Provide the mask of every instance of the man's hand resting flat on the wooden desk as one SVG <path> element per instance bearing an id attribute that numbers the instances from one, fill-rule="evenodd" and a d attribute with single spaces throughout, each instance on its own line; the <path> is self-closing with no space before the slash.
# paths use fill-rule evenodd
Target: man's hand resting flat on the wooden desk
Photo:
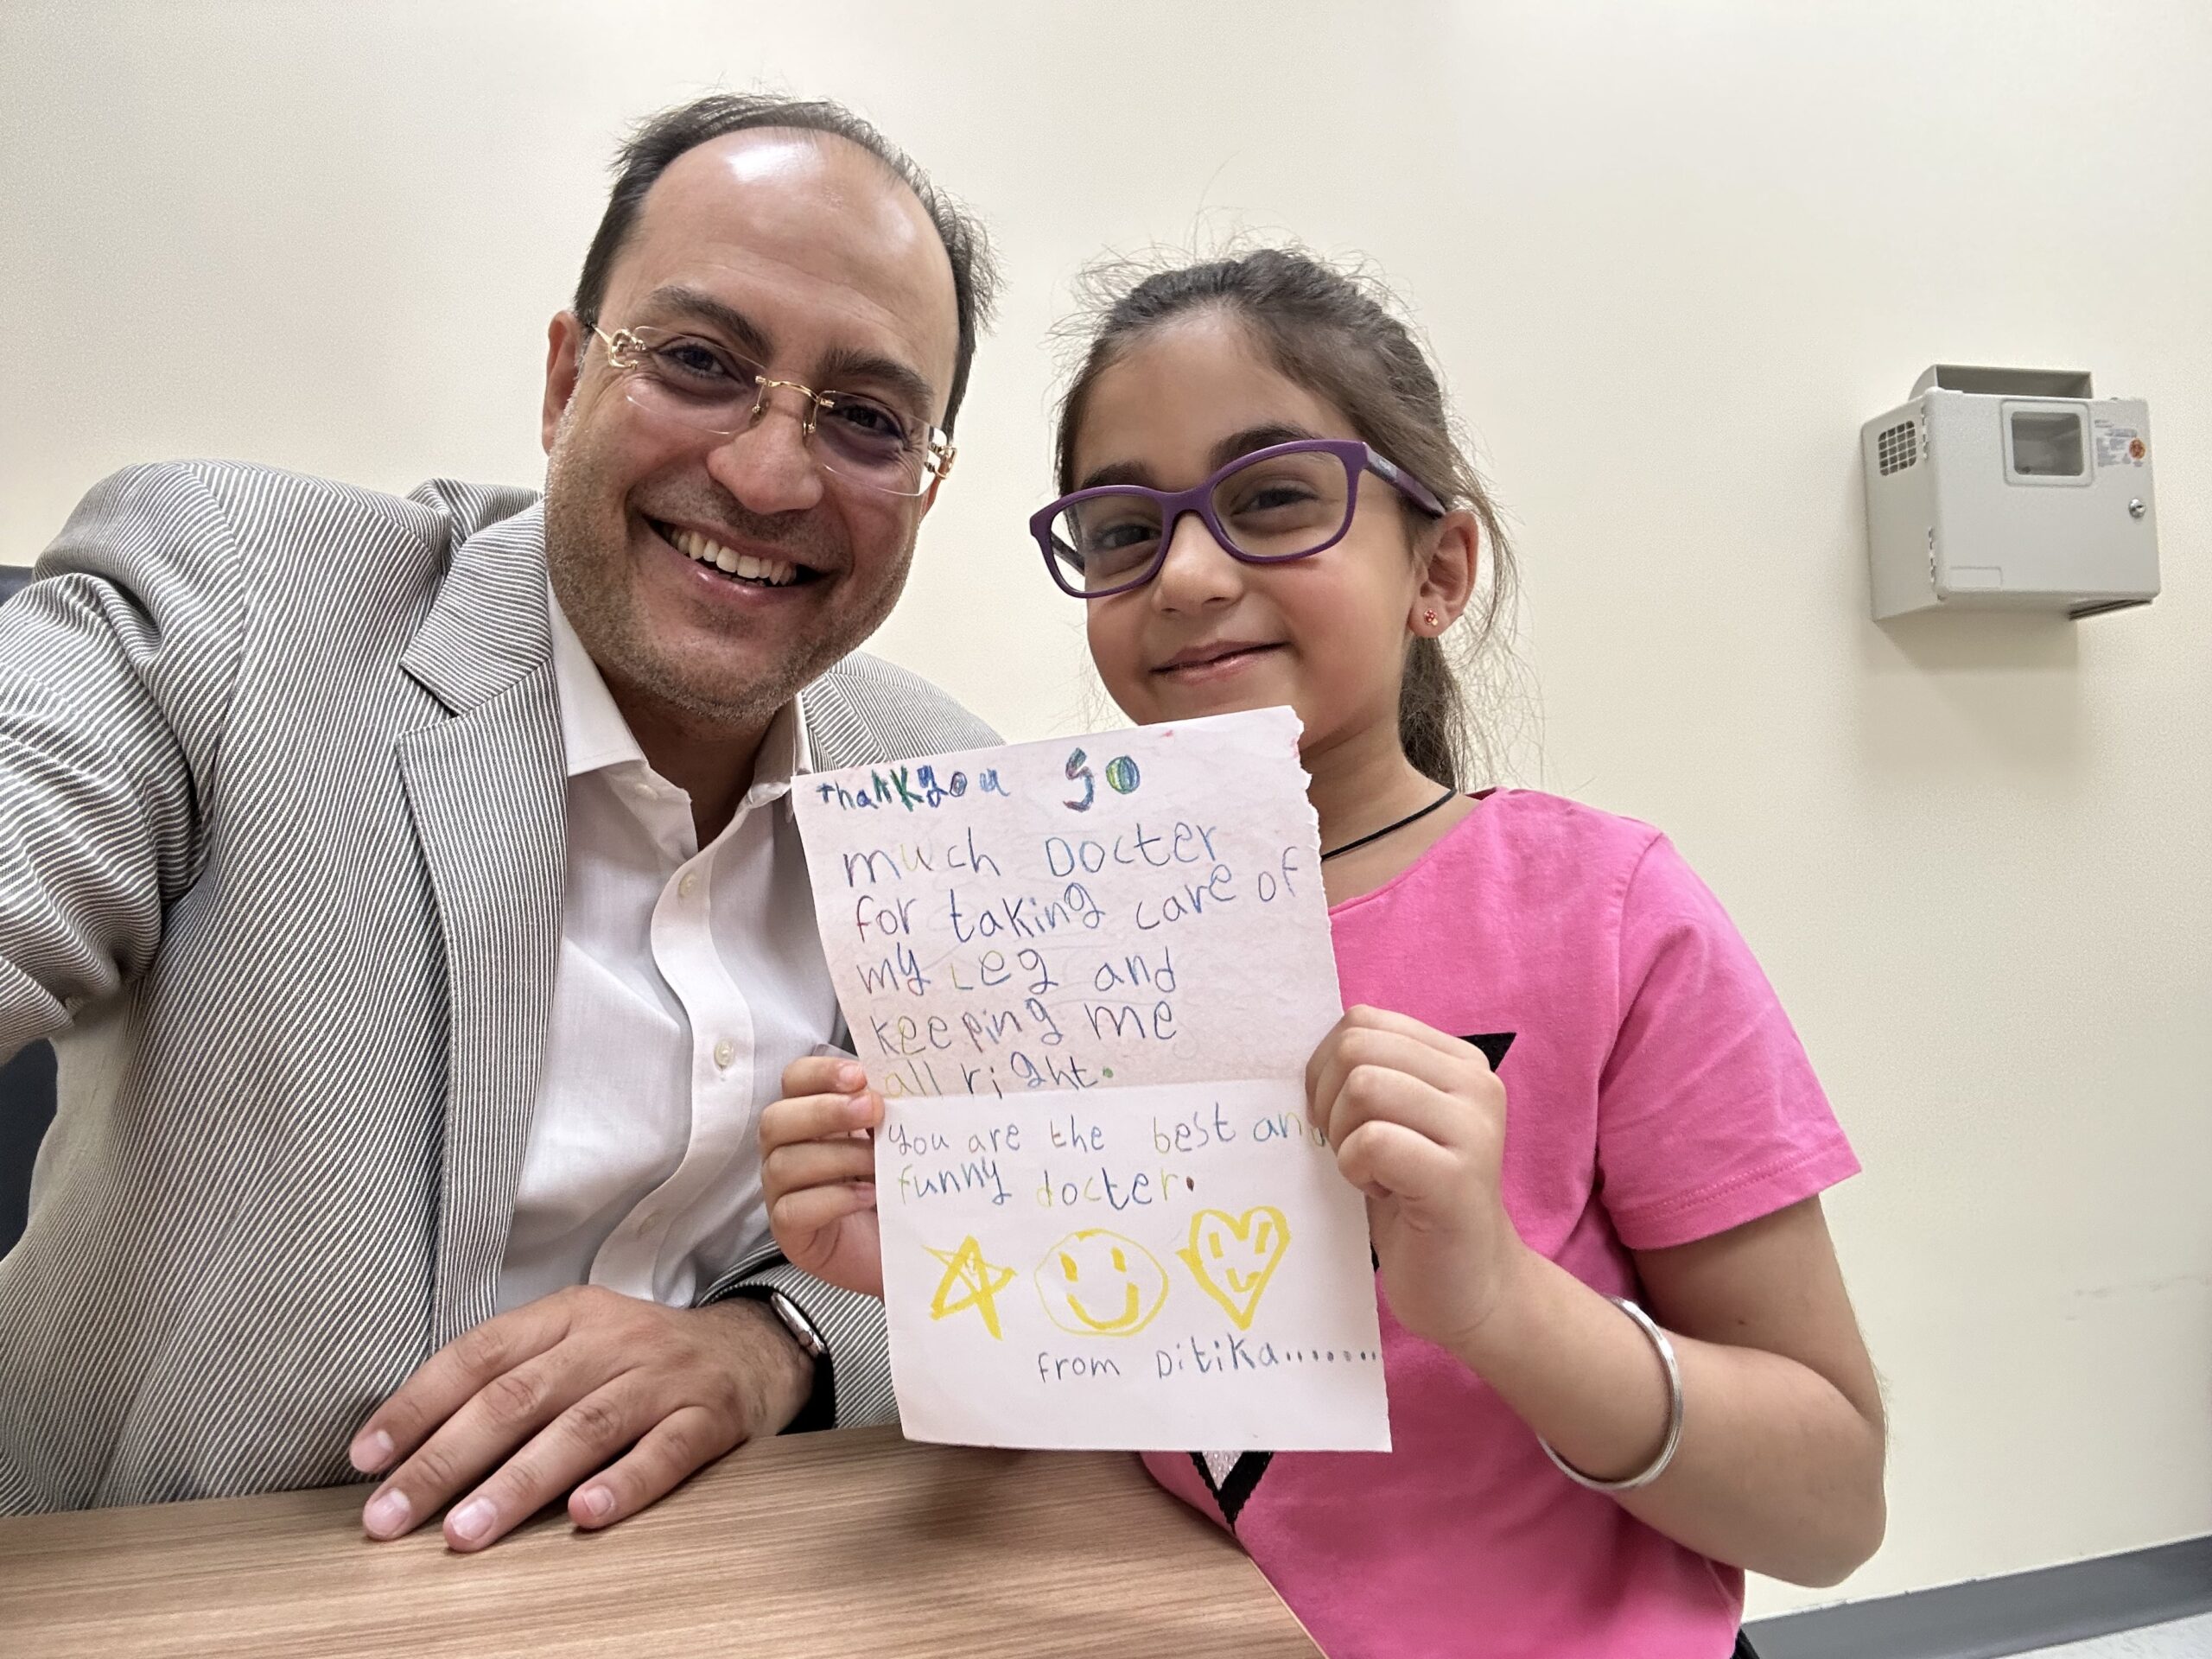
<path id="1" fill-rule="evenodd" d="M 741 1440 L 779 1433 L 812 1385 L 814 1360 L 759 1303 L 562 1290 L 447 1343 L 361 1427 L 354 1469 L 392 1471 L 361 1524 L 400 1537 L 467 1491 L 445 1517 L 456 1551 L 562 1493 L 577 1526 L 611 1526 Z"/>

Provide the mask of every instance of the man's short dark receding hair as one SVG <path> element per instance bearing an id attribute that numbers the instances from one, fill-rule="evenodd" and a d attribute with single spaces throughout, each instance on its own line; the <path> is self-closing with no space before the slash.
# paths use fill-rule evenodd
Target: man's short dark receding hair
<path id="1" fill-rule="evenodd" d="M 648 115 L 630 133 L 615 155 L 615 188 L 606 197 L 606 212 L 599 230 L 584 254 L 584 274 L 575 283 L 575 314 L 584 327 L 599 321 L 599 305 L 606 301 L 606 279 L 615 268 L 615 257 L 630 239 L 637 210 L 646 192 L 686 150 L 692 150 L 726 133 L 745 133 L 757 126 L 783 126 L 801 133 L 830 133 L 858 144 L 905 184 L 929 223 L 938 228 L 945 257 L 953 265 L 953 303 L 960 312 L 960 352 L 953 358 L 953 385 L 945 398 L 945 429 L 953 429 L 960 414 L 960 398 L 967 396 L 969 365 L 975 361 L 975 334 L 991 321 L 991 303 L 998 299 L 998 261 L 991 259 L 991 239 L 958 201 L 938 190 L 929 175 L 878 133 L 869 122 L 854 115 L 843 104 L 827 97 L 774 97 L 770 93 L 708 93 L 690 104 L 677 104 L 659 115 Z"/>

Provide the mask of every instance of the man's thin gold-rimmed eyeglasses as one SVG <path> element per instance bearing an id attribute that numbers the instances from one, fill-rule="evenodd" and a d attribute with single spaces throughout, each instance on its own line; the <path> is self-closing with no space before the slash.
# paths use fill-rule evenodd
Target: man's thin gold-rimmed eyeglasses
<path id="1" fill-rule="evenodd" d="M 836 478 L 887 495 L 922 495 L 953 469 L 953 442 L 945 431 L 878 398 L 774 380 L 752 358 L 699 334 L 661 327 L 608 334 L 597 325 L 591 332 L 624 376 L 628 400 L 659 420 L 734 438 L 768 414 L 768 394 L 783 389 L 805 400 L 799 431 L 814 462 Z"/>

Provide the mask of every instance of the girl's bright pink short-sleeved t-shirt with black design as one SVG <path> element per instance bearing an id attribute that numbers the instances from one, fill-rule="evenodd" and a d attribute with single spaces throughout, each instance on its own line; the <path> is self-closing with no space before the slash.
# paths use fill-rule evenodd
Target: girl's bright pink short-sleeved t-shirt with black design
<path id="1" fill-rule="evenodd" d="M 1750 949 L 1648 825 L 1500 790 L 1329 920 L 1347 1006 L 1502 1055 L 1506 1212 L 1595 1290 L 1635 1294 L 1630 1250 L 1708 1239 L 1858 1170 Z M 1739 1571 L 1566 1480 L 1387 1303 L 1383 1367 L 1389 1453 L 1146 1467 L 1230 1524 L 1332 1659 L 1725 1659 Z"/>

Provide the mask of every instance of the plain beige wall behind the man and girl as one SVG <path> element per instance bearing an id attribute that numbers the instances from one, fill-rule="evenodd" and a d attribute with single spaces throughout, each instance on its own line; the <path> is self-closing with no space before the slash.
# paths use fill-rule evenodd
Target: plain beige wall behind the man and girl
<path id="1" fill-rule="evenodd" d="M 0 560 L 148 456 L 533 480 L 611 137 L 768 80 L 998 228 L 878 648 L 1075 730 L 1077 606 L 1022 540 L 1066 279 L 1237 223 L 1363 250 L 1520 531 L 1522 781 L 1674 832 L 1871 1170 L 1834 1217 L 1893 1522 L 1851 1593 L 2212 1531 L 2208 15 L 9 0 Z M 2150 400 L 2157 606 L 1867 619 L 1856 427 L 1938 358 Z"/>

